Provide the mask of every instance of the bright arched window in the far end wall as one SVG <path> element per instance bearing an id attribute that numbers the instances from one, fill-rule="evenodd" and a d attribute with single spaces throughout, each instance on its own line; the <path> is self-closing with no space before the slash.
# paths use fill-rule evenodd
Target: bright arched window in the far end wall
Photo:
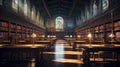
<path id="1" fill-rule="evenodd" d="M 56 18 L 56 31 L 62 31 L 63 30 L 63 24 L 64 20 L 61 16 L 58 16 Z"/>

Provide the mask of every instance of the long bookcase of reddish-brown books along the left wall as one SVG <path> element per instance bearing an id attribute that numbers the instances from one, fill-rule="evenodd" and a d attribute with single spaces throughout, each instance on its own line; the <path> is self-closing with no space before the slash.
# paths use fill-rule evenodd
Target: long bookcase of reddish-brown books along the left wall
<path id="1" fill-rule="evenodd" d="M 11 43 L 11 39 L 14 39 L 15 43 L 23 43 L 26 40 L 31 41 L 32 33 L 38 36 L 41 35 L 41 32 L 41 30 L 29 26 L 0 20 L 0 43 Z M 38 37 L 36 37 L 36 39 L 38 40 Z"/>

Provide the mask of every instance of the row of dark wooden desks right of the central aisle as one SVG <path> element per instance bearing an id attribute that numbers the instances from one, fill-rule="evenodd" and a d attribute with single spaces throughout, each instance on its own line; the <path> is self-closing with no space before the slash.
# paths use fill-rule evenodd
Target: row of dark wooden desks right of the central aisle
<path id="1" fill-rule="evenodd" d="M 97 44 L 89 44 L 86 43 L 86 41 L 70 41 L 71 45 L 73 46 L 73 49 L 75 50 L 76 48 L 82 49 L 83 50 L 83 61 L 84 62 L 90 62 L 91 58 L 91 53 L 92 55 L 95 55 L 96 52 L 110 52 L 113 53 L 112 55 L 116 61 L 120 61 L 120 45 L 114 45 L 112 46 L 111 44 L 105 45 L 101 44 L 100 42 L 97 42 Z M 95 60 L 94 60 L 95 61 Z"/>

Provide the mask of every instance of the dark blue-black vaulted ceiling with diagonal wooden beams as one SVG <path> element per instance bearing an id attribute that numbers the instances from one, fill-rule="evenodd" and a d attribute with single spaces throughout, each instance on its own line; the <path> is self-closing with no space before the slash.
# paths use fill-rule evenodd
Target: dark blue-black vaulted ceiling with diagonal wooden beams
<path id="1" fill-rule="evenodd" d="M 81 0 L 30 0 L 47 18 L 54 16 L 73 17 L 79 14 Z M 87 1 L 87 0 L 86 0 Z"/>

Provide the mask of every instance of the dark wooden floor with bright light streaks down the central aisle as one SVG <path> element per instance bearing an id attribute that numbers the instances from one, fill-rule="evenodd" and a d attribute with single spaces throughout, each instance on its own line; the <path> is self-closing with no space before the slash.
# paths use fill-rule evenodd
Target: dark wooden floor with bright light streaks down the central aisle
<path id="1" fill-rule="evenodd" d="M 120 67 L 117 62 L 100 62 L 85 64 L 82 62 L 79 50 L 73 50 L 64 40 L 57 40 L 51 49 L 44 50 L 43 58 L 39 62 L 31 61 L 7 61 L 0 62 L 0 67 Z"/>

